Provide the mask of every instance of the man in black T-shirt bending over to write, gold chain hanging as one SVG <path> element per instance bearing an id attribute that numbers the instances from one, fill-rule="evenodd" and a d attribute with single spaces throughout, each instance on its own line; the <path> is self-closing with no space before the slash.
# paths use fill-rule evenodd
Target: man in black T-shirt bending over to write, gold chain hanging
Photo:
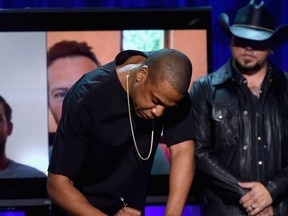
<path id="1" fill-rule="evenodd" d="M 144 215 L 163 131 L 172 161 L 165 214 L 181 215 L 194 175 L 191 75 L 180 51 L 126 50 L 78 80 L 48 167 L 51 214 Z"/>

